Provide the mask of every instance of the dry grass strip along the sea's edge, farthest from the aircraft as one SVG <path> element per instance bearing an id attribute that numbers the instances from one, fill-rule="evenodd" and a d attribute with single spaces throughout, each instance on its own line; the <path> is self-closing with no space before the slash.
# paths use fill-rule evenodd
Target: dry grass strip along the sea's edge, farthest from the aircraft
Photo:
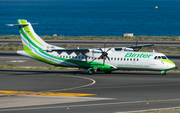
<path id="1" fill-rule="evenodd" d="M 133 36 L 133 37 L 123 37 L 123 36 L 40 36 L 45 40 L 141 40 L 141 41 L 180 41 L 179 36 Z M 0 39 L 20 39 L 19 35 L 0 35 Z"/>

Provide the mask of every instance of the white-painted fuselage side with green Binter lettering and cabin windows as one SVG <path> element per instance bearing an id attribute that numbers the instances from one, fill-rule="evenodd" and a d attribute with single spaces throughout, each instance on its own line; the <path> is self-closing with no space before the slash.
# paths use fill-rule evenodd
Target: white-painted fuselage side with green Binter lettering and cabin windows
<path id="1" fill-rule="evenodd" d="M 95 58 L 94 56 L 100 56 L 101 53 L 93 53 L 90 56 L 85 55 L 76 55 L 72 53 L 68 55 L 66 52 L 58 54 L 57 52 L 52 52 L 52 56 L 57 56 L 59 58 L 72 59 L 77 61 L 89 61 L 89 62 L 99 62 L 103 63 L 103 59 Z M 89 54 L 89 53 L 88 53 Z M 154 59 L 155 56 L 164 56 L 162 53 L 153 53 L 153 52 L 134 52 L 134 51 L 113 51 L 110 52 L 108 57 L 110 61 L 106 59 L 105 63 L 116 67 L 116 69 L 131 69 L 131 70 L 166 70 L 175 65 L 170 64 L 160 59 Z M 167 57 L 166 57 L 167 58 Z M 53 57 L 52 57 L 53 60 Z M 169 60 L 169 59 L 165 59 Z M 170 60 L 169 60 L 170 61 Z M 76 66 L 73 66 L 76 67 Z M 77 66 L 78 67 L 78 66 Z"/>

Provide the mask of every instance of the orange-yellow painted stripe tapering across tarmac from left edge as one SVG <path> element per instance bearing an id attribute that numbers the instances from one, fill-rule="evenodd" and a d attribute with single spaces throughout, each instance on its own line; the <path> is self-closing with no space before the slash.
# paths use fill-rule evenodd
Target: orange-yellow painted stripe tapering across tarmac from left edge
<path id="1" fill-rule="evenodd" d="M 7 90 L 0 90 L 0 94 L 7 94 L 7 95 L 17 94 L 17 95 L 70 96 L 70 97 L 80 97 L 80 96 L 92 96 L 92 95 L 96 95 L 96 94 L 83 94 L 83 93 L 7 91 Z"/>

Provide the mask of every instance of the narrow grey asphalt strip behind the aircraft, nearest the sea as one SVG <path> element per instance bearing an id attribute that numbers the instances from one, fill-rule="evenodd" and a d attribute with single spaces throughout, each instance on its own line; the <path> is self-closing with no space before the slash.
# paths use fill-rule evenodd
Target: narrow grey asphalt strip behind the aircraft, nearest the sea
<path id="1" fill-rule="evenodd" d="M 103 40 L 45 40 L 45 42 L 52 45 L 104 45 Z M 22 43 L 20 39 L 0 39 L 0 44 L 8 43 Z M 107 45 L 125 46 L 130 44 L 136 44 L 136 41 L 112 41 L 108 40 Z M 179 46 L 180 41 L 138 41 L 138 44 L 155 44 L 159 46 Z"/>

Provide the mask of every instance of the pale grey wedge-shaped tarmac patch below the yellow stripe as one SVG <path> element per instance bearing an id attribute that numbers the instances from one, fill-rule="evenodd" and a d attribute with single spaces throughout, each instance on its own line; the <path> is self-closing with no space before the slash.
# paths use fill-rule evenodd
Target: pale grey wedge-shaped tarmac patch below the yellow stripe
<path id="1" fill-rule="evenodd" d="M 7 111 L 11 111 L 12 107 L 32 107 L 38 105 L 51 105 L 51 104 L 64 104 L 74 102 L 87 102 L 87 101 L 100 101 L 100 100 L 112 100 L 113 98 L 98 98 L 98 97 L 65 97 L 65 96 L 16 96 L 0 98 L 0 111 L 6 108 Z M 60 107 L 60 106 L 59 106 Z M 8 109 L 10 108 L 10 109 Z M 41 107 L 37 107 L 41 109 Z M 18 110 L 19 108 L 17 108 Z M 26 108 L 21 108 L 21 110 Z M 36 109 L 33 107 L 32 109 Z"/>

